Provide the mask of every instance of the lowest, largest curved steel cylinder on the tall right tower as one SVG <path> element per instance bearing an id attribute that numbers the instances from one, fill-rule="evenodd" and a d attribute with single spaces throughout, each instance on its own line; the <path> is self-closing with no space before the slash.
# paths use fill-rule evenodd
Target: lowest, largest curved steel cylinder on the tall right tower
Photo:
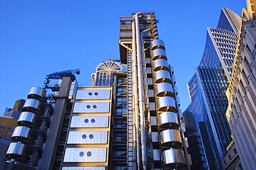
<path id="1" fill-rule="evenodd" d="M 163 151 L 164 166 L 168 168 L 185 167 L 185 157 L 181 149 L 167 149 Z"/>

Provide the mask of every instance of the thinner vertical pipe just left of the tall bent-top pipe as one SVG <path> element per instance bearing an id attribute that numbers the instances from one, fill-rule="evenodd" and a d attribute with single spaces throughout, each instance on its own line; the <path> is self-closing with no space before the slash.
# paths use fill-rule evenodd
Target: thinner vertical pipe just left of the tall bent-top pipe
<path id="1" fill-rule="evenodd" d="M 137 61 L 136 61 L 136 32 L 135 23 L 132 22 L 132 68 L 133 68 L 133 91 L 134 91 L 134 115 L 135 115 L 135 127 L 136 127 L 136 153 L 137 153 L 137 169 L 140 166 L 140 130 L 138 120 L 138 81 L 137 81 Z"/>

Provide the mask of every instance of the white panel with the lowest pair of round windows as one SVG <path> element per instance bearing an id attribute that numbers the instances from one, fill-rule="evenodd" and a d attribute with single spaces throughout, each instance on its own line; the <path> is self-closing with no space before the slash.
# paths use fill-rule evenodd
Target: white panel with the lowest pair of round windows
<path id="1" fill-rule="evenodd" d="M 91 156 L 87 156 L 88 153 Z M 80 155 L 83 153 L 83 155 Z M 66 148 L 64 162 L 106 162 L 107 148 Z"/>

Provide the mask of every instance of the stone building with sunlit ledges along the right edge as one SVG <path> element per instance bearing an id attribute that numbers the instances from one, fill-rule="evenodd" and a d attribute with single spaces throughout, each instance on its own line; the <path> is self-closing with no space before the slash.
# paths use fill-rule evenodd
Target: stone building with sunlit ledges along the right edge
<path id="1" fill-rule="evenodd" d="M 235 53 L 230 86 L 226 92 L 228 109 L 226 116 L 232 131 L 243 169 L 256 167 L 256 1 L 247 0 L 242 11 L 242 26 Z M 228 156 L 230 156 L 228 155 Z M 225 161 L 225 160 L 224 160 Z M 227 162 L 227 160 L 226 160 Z M 225 164 L 228 169 L 230 164 Z"/>

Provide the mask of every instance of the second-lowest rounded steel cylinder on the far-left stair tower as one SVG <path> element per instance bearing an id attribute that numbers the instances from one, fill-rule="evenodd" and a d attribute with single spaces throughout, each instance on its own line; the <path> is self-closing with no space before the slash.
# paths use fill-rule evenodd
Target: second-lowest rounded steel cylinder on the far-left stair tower
<path id="1" fill-rule="evenodd" d="M 13 141 L 28 142 L 32 129 L 29 127 L 15 127 L 11 139 Z"/>

